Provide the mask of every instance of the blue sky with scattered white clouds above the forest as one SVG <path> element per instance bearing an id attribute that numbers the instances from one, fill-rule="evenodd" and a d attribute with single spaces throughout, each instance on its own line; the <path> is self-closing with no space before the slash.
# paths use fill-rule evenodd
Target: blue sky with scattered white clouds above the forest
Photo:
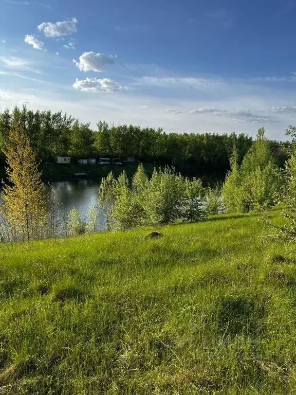
<path id="1" fill-rule="evenodd" d="M 286 139 L 295 19 L 290 0 L 0 0 L 0 107 Z"/>

